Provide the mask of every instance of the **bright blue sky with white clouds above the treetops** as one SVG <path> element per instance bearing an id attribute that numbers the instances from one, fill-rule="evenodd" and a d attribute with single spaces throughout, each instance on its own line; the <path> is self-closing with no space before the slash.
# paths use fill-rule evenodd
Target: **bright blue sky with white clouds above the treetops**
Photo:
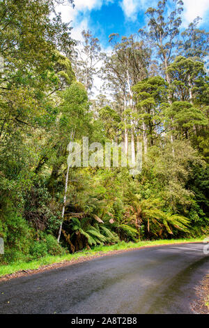
<path id="1" fill-rule="evenodd" d="M 62 5 L 57 10 L 61 11 L 65 22 L 72 21 L 74 38 L 80 40 L 82 30 L 90 29 L 100 39 L 104 50 L 108 50 L 110 33 L 121 36 L 137 33 L 146 24 L 146 8 L 156 3 L 157 0 L 75 0 L 74 9 Z M 200 27 L 208 30 L 209 1 L 184 0 L 184 3 L 183 26 L 199 15 L 203 18 Z"/>

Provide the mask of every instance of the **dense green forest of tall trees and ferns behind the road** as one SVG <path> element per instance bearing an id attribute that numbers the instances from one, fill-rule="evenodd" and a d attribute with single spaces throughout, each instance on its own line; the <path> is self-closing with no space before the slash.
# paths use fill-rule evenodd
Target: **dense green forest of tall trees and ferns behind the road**
<path id="1" fill-rule="evenodd" d="M 93 31 L 72 39 L 57 2 L 0 2 L 1 263 L 207 234 L 209 33 L 201 18 L 183 28 L 183 1 L 159 1 L 136 35 L 112 33 L 105 54 Z M 141 142 L 141 172 L 69 167 L 69 142 L 85 136 L 124 142 L 125 152 L 130 142 L 133 160 Z"/>

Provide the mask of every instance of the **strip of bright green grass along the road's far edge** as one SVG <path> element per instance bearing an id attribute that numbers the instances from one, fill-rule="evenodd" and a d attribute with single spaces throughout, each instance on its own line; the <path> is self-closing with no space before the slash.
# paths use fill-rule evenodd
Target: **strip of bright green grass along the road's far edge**
<path id="1" fill-rule="evenodd" d="M 111 246 L 95 246 L 89 251 L 80 251 L 75 254 L 66 254 L 63 256 L 45 256 L 44 258 L 40 258 L 39 260 L 34 260 L 31 262 L 14 262 L 8 265 L 0 266 L 0 277 L 6 276 L 6 274 L 14 274 L 17 271 L 29 270 L 29 269 L 38 269 L 47 264 L 53 263 L 61 263 L 64 261 L 77 260 L 81 257 L 92 257 L 94 255 L 98 255 L 100 253 L 108 253 L 111 251 L 125 250 L 128 248 L 140 248 L 144 246 L 157 246 L 157 245 L 165 245 L 165 244 L 181 244 L 185 242 L 197 242 L 203 241 L 204 237 L 201 238 L 191 238 L 191 239 L 169 239 L 169 240 L 157 240 L 157 241 L 139 241 L 137 243 L 125 243 L 125 241 L 121 241 L 118 244 Z"/>

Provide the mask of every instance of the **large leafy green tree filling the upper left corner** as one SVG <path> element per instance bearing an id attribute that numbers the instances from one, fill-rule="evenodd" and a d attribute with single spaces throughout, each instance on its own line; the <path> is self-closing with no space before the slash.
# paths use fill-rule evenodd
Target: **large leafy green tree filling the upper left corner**
<path id="1" fill-rule="evenodd" d="M 0 2 L 0 56 L 4 61 L 0 73 L 1 140 L 21 129 L 38 128 L 40 117 L 47 114 L 47 96 L 65 80 L 56 75 L 67 64 L 60 52 L 68 54 L 73 41 L 69 24 L 54 13 L 55 2 Z"/>

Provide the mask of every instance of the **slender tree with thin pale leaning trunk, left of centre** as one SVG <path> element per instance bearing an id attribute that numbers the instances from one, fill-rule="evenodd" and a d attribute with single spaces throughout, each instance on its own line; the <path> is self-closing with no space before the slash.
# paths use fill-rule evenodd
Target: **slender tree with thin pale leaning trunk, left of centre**
<path id="1" fill-rule="evenodd" d="M 67 156 L 70 149 L 67 146 L 69 142 L 80 140 L 85 133 L 89 135 L 92 119 L 88 111 L 88 96 L 82 83 L 72 83 L 70 87 L 61 91 L 60 97 L 59 115 L 54 122 L 54 133 L 52 134 L 51 140 L 49 140 L 50 144 L 54 143 L 53 152 L 47 161 L 47 166 L 52 168 L 47 187 L 54 199 L 62 191 L 61 186 L 64 185 L 63 209 L 58 241 L 61 237 L 62 222 L 68 195 L 70 164 L 67 165 Z M 66 166 L 67 169 L 65 170 Z M 63 180 L 65 180 L 65 183 Z"/>

